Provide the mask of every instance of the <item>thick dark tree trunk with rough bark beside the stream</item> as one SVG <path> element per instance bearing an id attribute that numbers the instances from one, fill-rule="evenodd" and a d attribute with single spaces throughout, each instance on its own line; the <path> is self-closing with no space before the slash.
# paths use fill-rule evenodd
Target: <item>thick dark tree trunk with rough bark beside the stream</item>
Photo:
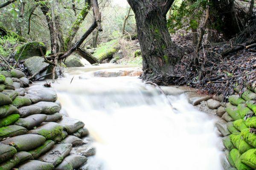
<path id="1" fill-rule="evenodd" d="M 145 81 L 168 84 L 180 59 L 180 48 L 172 43 L 166 14 L 173 0 L 128 0 L 134 11 L 143 56 Z"/>

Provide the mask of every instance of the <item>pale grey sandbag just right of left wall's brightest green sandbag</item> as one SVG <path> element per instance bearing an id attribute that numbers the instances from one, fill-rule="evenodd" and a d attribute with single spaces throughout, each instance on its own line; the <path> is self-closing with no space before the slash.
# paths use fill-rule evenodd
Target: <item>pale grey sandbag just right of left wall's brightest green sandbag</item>
<path id="1" fill-rule="evenodd" d="M 15 122 L 15 124 L 30 130 L 33 129 L 34 127 L 39 126 L 41 123 L 45 121 L 46 118 L 47 115 L 42 114 L 30 115 L 26 118 L 20 118 Z"/>

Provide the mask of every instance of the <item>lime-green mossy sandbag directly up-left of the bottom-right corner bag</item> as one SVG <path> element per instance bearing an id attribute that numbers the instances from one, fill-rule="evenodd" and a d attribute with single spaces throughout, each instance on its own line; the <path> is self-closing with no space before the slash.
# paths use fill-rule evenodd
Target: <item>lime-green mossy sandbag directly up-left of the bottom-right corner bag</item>
<path id="1" fill-rule="evenodd" d="M 239 153 L 243 154 L 247 150 L 253 149 L 246 141 L 243 140 L 240 133 L 234 133 L 230 135 L 230 140 L 234 146 L 239 150 Z"/>

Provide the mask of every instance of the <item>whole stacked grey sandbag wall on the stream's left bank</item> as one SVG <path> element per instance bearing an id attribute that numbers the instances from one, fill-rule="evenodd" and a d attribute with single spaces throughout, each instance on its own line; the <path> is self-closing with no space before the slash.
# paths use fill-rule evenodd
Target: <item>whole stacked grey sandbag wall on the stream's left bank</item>
<path id="1" fill-rule="evenodd" d="M 24 76 L 0 71 L 0 170 L 84 169 L 95 154 L 84 123 L 67 116 L 54 89 L 28 87 Z"/>

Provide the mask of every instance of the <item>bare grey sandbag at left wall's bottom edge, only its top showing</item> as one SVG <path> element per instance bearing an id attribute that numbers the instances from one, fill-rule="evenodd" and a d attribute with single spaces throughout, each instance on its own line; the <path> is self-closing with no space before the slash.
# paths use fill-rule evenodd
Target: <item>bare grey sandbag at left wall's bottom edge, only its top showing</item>
<path id="1" fill-rule="evenodd" d="M 38 160 L 29 160 L 21 165 L 18 170 L 53 170 L 54 166 L 51 163 Z"/>

